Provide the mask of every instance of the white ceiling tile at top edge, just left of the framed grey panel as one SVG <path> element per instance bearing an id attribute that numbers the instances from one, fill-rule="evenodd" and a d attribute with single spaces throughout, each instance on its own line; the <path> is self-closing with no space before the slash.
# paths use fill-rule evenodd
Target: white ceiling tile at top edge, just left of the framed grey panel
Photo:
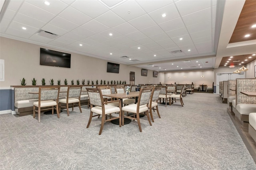
<path id="1" fill-rule="evenodd" d="M 108 11 L 108 8 L 98 2 L 97 0 L 77 0 L 71 4 L 73 8 L 81 11 L 82 13 L 95 18 Z M 97 10 L 92 10 L 97 9 Z"/>

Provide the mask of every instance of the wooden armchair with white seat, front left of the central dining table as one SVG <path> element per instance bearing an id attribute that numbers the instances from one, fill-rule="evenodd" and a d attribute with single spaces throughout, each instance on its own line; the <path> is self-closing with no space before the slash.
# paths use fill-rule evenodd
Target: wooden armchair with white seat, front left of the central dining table
<path id="1" fill-rule="evenodd" d="M 115 107 L 110 105 L 110 103 L 113 103 L 116 101 L 104 101 L 102 89 L 98 89 L 98 88 L 86 88 L 86 89 L 90 99 L 90 118 L 86 128 L 90 126 L 92 117 L 98 117 L 99 115 L 102 115 L 99 135 L 102 133 L 104 124 L 107 121 L 119 119 L 119 127 L 122 127 L 121 100 L 118 100 L 118 107 Z M 119 112 L 118 117 L 114 117 L 111 115 L 111 113 L 117 113 L 117 112 Z M 95 113 L 96 115 L 94 115 L 93 113 Z M 110 119 L 107 119 L 108 117 L 110 117 Z"/>

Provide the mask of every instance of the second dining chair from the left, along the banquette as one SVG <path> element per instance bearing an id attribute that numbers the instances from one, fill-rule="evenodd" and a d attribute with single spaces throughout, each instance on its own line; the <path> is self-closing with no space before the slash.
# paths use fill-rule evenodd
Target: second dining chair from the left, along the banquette
<path id="1" fill-rule="evenodd" d="M 68 92 L 66 99 L 59 100 L 59 109 L 66 108 L 69 116 L 69 105 L 72 105 L 72 111 L 74 111 L 74 105 L 78 105 L 80 112 L 82 113 L 81 104 L 80 104 L 80 96 L 81 96 L 82 86 L 80 85 L 72 85 L 68 86 Z M 65 105 L 61 105 L 64 103 Z"/>

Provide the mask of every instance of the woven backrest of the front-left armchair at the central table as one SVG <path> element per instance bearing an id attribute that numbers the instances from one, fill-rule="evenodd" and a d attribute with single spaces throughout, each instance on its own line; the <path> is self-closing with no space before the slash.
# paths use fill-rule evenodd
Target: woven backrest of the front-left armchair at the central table
<path id="1" fill-rule="evenodd" d="M 98 88 L 86 88 L 86 90 L 87 90 L 87 93 L 88 93 L 88 97 L 89 97 L 89 100 L 90 100 L 91 107 L 92 107 L 92 105 L 102 107 L 103 100 L 101 100 L 101 97 L 100 97 L 100 89 L 98 89 Z"/>

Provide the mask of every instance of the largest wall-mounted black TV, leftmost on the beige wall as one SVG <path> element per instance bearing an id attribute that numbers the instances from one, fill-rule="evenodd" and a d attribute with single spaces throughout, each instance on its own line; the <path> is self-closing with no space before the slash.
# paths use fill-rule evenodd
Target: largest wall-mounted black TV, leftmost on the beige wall
<path id="1" fill-rule="evenodd" d="M 70 68 L 71 54 L 40 48 L 40 65 Z"/>

